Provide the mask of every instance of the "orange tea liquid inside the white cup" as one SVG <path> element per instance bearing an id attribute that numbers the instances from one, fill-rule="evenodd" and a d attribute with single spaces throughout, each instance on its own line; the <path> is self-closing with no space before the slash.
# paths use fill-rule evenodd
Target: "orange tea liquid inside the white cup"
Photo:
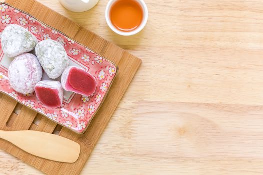
<path id="1" fill-rule="evenodd" d="M 133 31 L 140 26 L 143 9 L 136 0 L 117 0 L 110 9 L 111 23 L 120 31 Z"/>

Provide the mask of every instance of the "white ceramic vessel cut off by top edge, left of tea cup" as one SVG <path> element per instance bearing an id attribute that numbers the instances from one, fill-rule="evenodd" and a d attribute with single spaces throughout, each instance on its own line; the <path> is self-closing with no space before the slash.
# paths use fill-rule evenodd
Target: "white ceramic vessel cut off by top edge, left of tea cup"
<path id="1" fill-rule="evenodd" d="M 70 11 L 83 12 L 93 8 L 99 0 L 59 0 Z"/>

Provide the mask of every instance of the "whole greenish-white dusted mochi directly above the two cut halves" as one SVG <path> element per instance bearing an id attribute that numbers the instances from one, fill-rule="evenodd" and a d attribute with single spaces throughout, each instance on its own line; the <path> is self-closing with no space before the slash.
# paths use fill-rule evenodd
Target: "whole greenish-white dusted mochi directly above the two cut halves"
<path id="1" fill-rule="evenodd" d="M 54 40 L 43 40 L 35 48 L 38 60 L 47 75 L 55 79 L 69 66 L 69 58 L 64 47 Z"/>

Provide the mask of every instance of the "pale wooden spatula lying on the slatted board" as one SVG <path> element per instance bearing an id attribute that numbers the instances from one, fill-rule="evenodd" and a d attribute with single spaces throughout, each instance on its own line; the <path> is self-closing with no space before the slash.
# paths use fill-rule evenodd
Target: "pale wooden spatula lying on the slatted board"
<path id="1" fill-rule="evenodd" d="M 80 145 L 59 135 L 34 130 L 3 131 L 0 138 L 20 149 L 53 161 L 74 163 L 80 154 Z"/>

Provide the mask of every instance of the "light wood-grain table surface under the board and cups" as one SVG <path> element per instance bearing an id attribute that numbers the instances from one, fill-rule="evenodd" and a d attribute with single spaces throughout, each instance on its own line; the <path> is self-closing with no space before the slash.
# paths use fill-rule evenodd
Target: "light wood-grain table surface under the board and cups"
<path id="1" fill-rule="evenodd" d="M 82 174 L 263 173 L 262 0 L 145 0 L 131 37 L 108 28 L 108 0 L 84 13 L 38 1 L 143 60 Z M 42 174 L 0 160 L 0 174 Z"/>

